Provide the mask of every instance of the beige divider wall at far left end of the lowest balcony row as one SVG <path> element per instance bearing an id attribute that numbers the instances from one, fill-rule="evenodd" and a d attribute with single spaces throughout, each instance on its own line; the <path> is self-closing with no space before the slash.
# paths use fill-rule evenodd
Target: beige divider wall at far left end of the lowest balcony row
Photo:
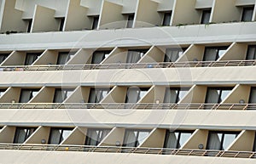
<path id="1" fill-rule="evenodd" d="M 15 130 L 15 127 L 3 127 L 0 133 L 0 142 L 6 144 L 13 144 L 15 139 Z"/>

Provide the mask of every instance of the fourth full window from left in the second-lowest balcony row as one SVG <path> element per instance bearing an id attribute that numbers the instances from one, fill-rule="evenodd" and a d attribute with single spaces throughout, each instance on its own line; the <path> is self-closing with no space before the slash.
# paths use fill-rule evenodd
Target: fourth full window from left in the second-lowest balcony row
<path id="1" fill-rule="evenodd" d="M 137 103 L 148 92 L 148 88 L 128 88 L 125 103 Z"/>

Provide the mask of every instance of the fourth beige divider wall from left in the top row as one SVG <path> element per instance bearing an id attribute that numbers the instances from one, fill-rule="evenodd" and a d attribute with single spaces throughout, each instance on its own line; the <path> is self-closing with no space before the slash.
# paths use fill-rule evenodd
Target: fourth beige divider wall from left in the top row
<path id="1" fill-rule="evenodd" d="M 122 14 L 123 6 L 103 1 L 99 29 L 125 28 L 126 20 Z"/>

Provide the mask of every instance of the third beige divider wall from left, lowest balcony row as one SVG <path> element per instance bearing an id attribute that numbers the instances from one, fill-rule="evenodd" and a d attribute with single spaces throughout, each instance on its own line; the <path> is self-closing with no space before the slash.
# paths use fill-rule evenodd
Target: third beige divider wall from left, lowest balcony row
<path id="1" fill-rule="evenodd" d="M 86 132 L 87 128 L 75 127 L 73 132 L 67 137 L 66 140 L 63 140 L 61 144 L 84 145 Z"/>

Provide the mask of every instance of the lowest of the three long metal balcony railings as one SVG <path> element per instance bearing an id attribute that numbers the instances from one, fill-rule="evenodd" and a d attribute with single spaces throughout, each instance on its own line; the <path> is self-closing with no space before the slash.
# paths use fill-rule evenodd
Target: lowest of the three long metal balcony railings
<path id="1" fill-rule="evenodd" d="M 71 144 L 0 144 L 0 150 L 51 150 L 51 151 L 84 151 L 104 153 L 134 153 L 166 156 L 214 156 L 230 158 L 256 158 L 253 151 L 229 150 L 177 150 L 166 148 L 136 148 L 118 146 L 88 146 Z"/>

